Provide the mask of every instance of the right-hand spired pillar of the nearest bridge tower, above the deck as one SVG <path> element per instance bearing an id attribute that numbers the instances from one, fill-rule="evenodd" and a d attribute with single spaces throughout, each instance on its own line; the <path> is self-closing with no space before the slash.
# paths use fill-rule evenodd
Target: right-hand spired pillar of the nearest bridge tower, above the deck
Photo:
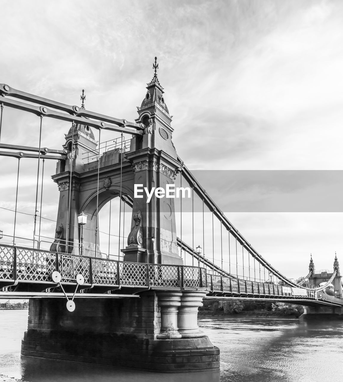
<path id="1" fill-rule="evenodd" d="M 165 190 L 168 184 L 174 184 L 180 162 L 171 141 L 172 116 L 164 100 L 163 87 L 157 78 L 156 60 L 155 57 L 155 74 L 147 84 L 141 106 L 137 107 L 136 122 L 145 128 L 142 137 L 132 139 L 126 158 L 134 168 L 135 185 L 142 185 L 149 190 L 154 187 Z M 174 199 L 158 198 L 154 194 L 150 202 L 147 202 L 144 194 L 143 198 L 134 198 L 132 214 L 133 218 L 141 215 L 142 243 L 138 243 L 131 231 L 128 246 L 122 250 L 125 261 L 182 265 L 176 244 Z"/>

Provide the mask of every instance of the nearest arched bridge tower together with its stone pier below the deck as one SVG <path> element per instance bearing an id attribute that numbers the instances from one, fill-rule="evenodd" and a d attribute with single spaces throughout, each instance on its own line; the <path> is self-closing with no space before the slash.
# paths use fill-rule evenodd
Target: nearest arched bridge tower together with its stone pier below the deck
<path id="1" fill-rule="evenodd" d="M 138 107 L 136 122 L 141 131 L 131 139 L 129 151 L 120 147 L 100 156 L 99 142 L 91 129 L 78 124 L 66 135 L 67 159 L 58 163 L 52 176 L 60 189 L 54 251 L 58 251 L 61 238 L 79 241 L 77 215 L 84 212 L 88 216 L 84 255 L 102 257 L 97 213 L 114 197 L 128 196 L 132 201 L 132 228 L 128 245 L 122 249 L 124 262 L 118 261 L 116 268 L 108 271 L 100 259 L 87 261 L 100 264 L 99 272 L 111 282 L 121 273 L 128 276 L 132 282 L 128 293 L 136 294 L 125 295 L 119 282 L 110 283 L 107 294 L 78 299 L 73 312 L 66 310 L 63 299 L 31 299 L 23 355 L 160 371 L 219 367 L 219 349 L 197 325 L 198 308 L 209 291 L 202 283 L 187 288 L 181 283 L 163 287 L 163 277 L 175 277 L 172 272 L 179 267 L 160 264 L 183 264 L 177 249 L 173 198 L 153 195 L 148 202 L 145 193 L 142 198 L 134 197 L 135 185 L 149 191 L 153 187 L 165 190 L 182 165 L 171 141 L 171 116 L 157 68 L 155 57 L 155 74 Z M 94 155 L 97 159 L 97 153 L 99 160 L 92 160 Z M 67 251 L 78 254 L 72 246 Z M 149 264 L 134 264 L 142 262 Z M 162 267 L 168 269 L 165 275 Z M 144 286 L 138 283 L 142 269 L 148 272 L 144 274 Z M 193 270 L 186 269 L 186 274 L 182 270 L 183 280 Z M 145 282 L 150 283 L 150 275 L 160 282 L 156 290 L 145 286 Z M 201 277 L 199 273 L 199 280 Z M 112 291 L 115 296 L 111 296 Z"/>

